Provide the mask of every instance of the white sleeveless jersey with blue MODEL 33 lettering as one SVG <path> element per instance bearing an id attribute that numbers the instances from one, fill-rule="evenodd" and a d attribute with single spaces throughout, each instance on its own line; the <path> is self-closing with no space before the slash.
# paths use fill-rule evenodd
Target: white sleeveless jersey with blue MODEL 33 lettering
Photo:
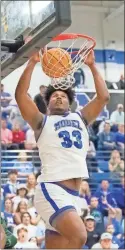
<path id="1" fill-rule="evenodd" d="M 38 182 L 88 178 L 89 135 L 79 113 L 46 116 L 37 146 L 42 162 Z"/>

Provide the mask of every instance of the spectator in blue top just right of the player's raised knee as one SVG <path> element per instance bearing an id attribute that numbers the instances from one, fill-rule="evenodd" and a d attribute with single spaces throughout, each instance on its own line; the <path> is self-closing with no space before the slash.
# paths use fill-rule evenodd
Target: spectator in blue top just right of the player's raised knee
<path id="1" fill-rule="evenodd" d="M 103 233 L 105 231 L 104 215 L 103 211 L 99 206 L 97 197 L 94 196 L 91 197 L 89 208 L 90 208 L 90 214 L 94 217 L 96 221 L 96 229 L 98 230 L 98 232 Z"/>

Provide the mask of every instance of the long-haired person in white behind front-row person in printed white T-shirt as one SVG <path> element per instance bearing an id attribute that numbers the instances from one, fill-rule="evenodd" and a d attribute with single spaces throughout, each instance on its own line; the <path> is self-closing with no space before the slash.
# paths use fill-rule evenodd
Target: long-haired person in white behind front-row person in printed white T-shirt
<path id="1" fill-rule="evenodd" d="M 28 212 L 25 212 L 21 216 L 21 224 L 14 228 L 14 235 L 17 237 L 17 231 L 20 228 L 26 228 L 28 231 L 28 240 L 32 237 L 36 237 L 37 227 L 31 224 L 31 216 Z"/>

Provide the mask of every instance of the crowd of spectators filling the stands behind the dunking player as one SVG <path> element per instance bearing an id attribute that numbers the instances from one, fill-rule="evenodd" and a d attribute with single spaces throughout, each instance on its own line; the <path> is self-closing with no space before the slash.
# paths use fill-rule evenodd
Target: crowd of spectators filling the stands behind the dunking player
<path id="1" fill-rule="evenodd" d="M 34 102 L 45 114 L 44 91 L 45 87 L 40 86 Z M 38 165 L 33 161 L 37 152 L 34 132 L 23 120 L 11 95 L 4 91 L 3 84 L 1 106 L 1 224 L 9 232 L 10 243 L 6 244 L 15 249 L 44 249 L 45 223 L 33 202 L 41 166 L 40 160 Z M 122 249 L 125 243 L 123 105 L 117 105 L 109 120 L 100 121 L 97 131 L 94 126 L 88 131 L 90 179 L 83 180 L 80 188 L 81 218 L 87 230 L 83 248 Z"/>

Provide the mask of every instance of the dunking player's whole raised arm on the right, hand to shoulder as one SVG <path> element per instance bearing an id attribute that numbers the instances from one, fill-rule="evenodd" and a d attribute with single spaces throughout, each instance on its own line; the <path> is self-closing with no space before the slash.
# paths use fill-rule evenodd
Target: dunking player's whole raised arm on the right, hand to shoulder
<path id="1" fill-rule="evenodd" d="M 98 117 L 104 106 L 109 102 L 110 95 L 106 83 L 96 67 L 93 50 L 86 58 L 85 64 L 88 65 L 92 72 L 96 89 L 96 96 L 81 110 L 82 117 L 90 124 Z"/>

